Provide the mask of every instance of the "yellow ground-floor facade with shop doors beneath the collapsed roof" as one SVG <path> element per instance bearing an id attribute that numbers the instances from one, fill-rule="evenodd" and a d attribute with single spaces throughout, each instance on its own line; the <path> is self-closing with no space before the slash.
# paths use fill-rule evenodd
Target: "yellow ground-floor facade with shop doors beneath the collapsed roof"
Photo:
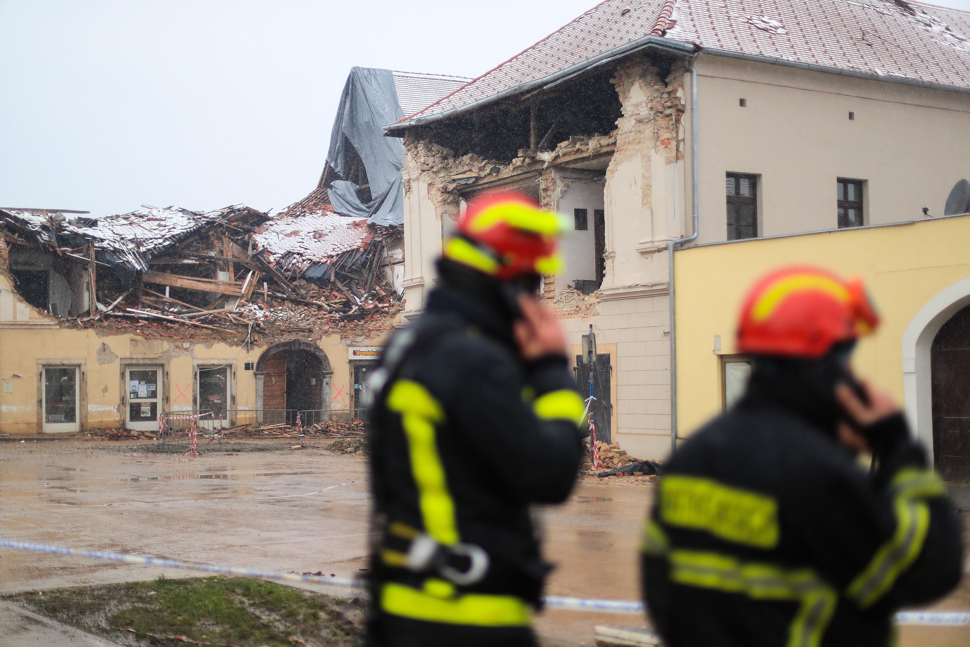
<path id="1" fill-rule="evenodd" d="M 242 337 L 235 342 L 194 337 L 188 326 L 171 338 L 61 328 L 0 274 L 0 432 L 150 431 L 158 428 L 160 412 L 206 409 L 237 412 L 231 414 L 233 424 L 237 417 L 249 422 L 257 410 L 277 409 L 279 393 L 294 388 L 302 390 L 305 404 L 298 408 L 360 407 L 361 385 L 355 380 L 362 383 L 367 371 L 361 368 L 372 366 L 380 341 L 294 335 L 247 346 Z M 275 384 L 280 379 L 284 384 Z"/>

